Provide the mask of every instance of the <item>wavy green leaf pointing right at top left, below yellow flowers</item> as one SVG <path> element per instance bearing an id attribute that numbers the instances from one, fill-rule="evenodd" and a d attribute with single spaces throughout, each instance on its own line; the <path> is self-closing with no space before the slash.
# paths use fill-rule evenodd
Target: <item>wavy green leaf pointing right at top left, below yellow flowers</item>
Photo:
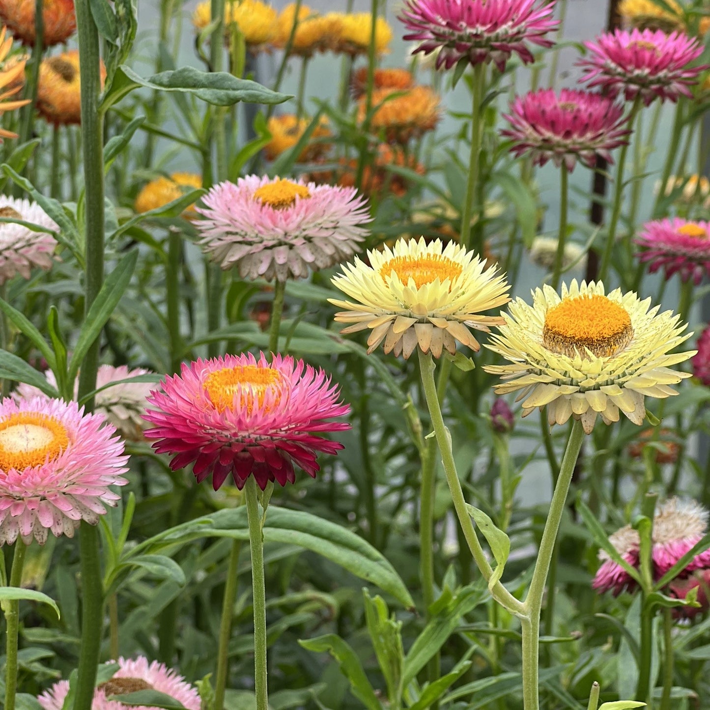
<path id="1" fill-rule="evenodd" d="M 106 111 L 138 87 L 154 91 L 187 92 L 214 106 L 232 106 L 240 101 L 251 104 L 282 104 L 292 98 L 256 82 L 238 79 L 227 72 L 201 72 L 194 67 L 182 67 L 144 79 L 131 67 L 121 65 L 116 69 L 110 91 L 102 100 L 102 111 Z"/>

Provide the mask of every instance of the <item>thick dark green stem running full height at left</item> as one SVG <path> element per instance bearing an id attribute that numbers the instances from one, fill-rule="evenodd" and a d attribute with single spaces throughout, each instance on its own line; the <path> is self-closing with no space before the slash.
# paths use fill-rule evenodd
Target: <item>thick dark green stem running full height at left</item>
<path id="1" fill-rule="evenodd" d="M 82 148 L 84 154 L 86 273 L 84 312 L 88 312 L 104 282 L 104 131 L 103 114 L 99 109 L 101 92 L 99 33 L 89 0 L 76 0 L 79 36 L 80 80 L 82 84 Z M 79 397 L 96 388 L 99 366 L 99 339 L 84 357 L 79 377 Z M 89 398 L 86 408 L 94 408 Z M 80 563 L 82 573 L 82 642 L 74 710 L 90 710 L 94 697 L 97 665 L 104 626 L 104 589 L 99 530 L 83 522 L 80 526 Z"/>

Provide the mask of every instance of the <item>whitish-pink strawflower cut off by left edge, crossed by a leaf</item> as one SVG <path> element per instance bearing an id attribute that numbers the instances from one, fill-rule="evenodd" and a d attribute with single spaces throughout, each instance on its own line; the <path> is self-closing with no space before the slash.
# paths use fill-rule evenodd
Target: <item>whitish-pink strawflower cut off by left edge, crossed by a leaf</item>
<path id="1" fill-rule="evenodd" d="M 45 271 L 52 268 L 57 241 L 49 232 L 59 227 L 36 202 L 0 195 L 0 217 L 21 219 L 48 230 L 33 231 L 22 224 L 0 222 L 0 284 L 18 273 L 30 278 L 34 267 Z"/>

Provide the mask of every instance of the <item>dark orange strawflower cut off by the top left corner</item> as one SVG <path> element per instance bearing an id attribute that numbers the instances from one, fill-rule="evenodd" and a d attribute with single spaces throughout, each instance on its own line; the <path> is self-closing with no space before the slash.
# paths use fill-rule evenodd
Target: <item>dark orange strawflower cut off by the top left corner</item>
<path id="1" fill-rule="evenodd" d="M 43 47 L 66 42 L 77 30 L 74 0 L 44 0 Z M 0 20 L 23 44 L 35 43 L 35 0 L 0 0 Z"/>

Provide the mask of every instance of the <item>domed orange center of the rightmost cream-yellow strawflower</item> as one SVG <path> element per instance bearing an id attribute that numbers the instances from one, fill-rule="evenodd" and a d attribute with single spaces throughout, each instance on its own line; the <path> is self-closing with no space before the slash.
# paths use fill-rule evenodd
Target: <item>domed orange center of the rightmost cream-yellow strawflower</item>
<path id="1" fill-rule="evenodd" d="M 606 296 L 565 298 L 545 314 L 542 342 L 548 350 L 584 357 L 589 349 L 597 357 L 611 357 L 633 337 L 626 310 Z"/>

